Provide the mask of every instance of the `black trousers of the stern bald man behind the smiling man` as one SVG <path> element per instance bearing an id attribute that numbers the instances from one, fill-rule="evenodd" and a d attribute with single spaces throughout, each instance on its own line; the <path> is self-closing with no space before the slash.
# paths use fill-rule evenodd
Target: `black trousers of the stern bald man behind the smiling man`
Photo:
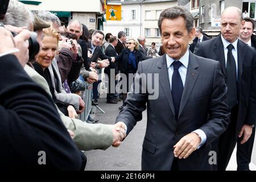
<path id="1" fill-rule="evenodd" d="M 214 171 L 225 171 L 229 160 L 236 147 L 238 105 L 231 110 L 230 123 L 226 131 L 212 143 L 212 150 L 217 153 L 217 165 L 213 165 Z"/>

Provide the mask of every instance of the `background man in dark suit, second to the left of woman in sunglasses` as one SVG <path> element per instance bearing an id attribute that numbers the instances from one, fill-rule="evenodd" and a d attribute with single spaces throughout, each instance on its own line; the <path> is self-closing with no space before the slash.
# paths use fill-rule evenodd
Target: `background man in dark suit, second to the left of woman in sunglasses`
<path id="1" fill-rule="evenodd" d="M 117 46 L 118 39 L 117 36 L 112 36 L 109 39 L 109 46 L 106 48 L 105 54 L 106 56 L 117 56 L 117 52 L 115 51 L 115 46 Z M 118 74 L 118 68 L 115 62 L 110 62 L 109 66 L 104 69 L 104 73 L 108 75 L 108 93 L 107 93 L 107 103 L 109 104 L 117 104 L 118 98 L 115 98 L 115 85 L 117 85 L 117 81 L 115 81 L 115 76 Z"/>

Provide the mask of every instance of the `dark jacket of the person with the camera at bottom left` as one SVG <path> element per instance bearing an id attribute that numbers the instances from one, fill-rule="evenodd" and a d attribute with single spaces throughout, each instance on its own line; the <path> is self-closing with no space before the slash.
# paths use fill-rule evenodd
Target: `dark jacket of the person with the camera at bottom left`
<path id="1" fill-rule="evenodd" d="M 80 152 L 51 97 L 14 55 L 0 61 L 0 169 L 80 169 Z M 38 164 L 40 151 L 46 152 L 46 165 Z"/>

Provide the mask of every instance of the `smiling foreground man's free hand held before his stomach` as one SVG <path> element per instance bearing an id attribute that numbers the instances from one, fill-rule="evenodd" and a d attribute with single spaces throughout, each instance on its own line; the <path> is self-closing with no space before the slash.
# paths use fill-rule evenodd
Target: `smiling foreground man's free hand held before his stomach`
<path id="1" fill-rule="evenodd" d="M 174 156 L 179 159 L 186 159 L 197 149 L 201 138 L 196 133 L 189 133 L 179 140 L 174 146 Z"/>

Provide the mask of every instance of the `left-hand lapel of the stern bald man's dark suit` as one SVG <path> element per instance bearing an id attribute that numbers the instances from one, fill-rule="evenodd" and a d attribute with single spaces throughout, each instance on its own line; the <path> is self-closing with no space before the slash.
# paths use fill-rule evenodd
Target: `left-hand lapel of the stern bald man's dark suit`
<path id="1" fill-rule="evenodd" d="M 224 53 L 224 46 L 221 40 L 221 36 L 218 36 L 215 40 L 214 52 L 217 57 L 217 61 L 220 61 L 222 72 L 226 76 L 225 53 Z"/>

